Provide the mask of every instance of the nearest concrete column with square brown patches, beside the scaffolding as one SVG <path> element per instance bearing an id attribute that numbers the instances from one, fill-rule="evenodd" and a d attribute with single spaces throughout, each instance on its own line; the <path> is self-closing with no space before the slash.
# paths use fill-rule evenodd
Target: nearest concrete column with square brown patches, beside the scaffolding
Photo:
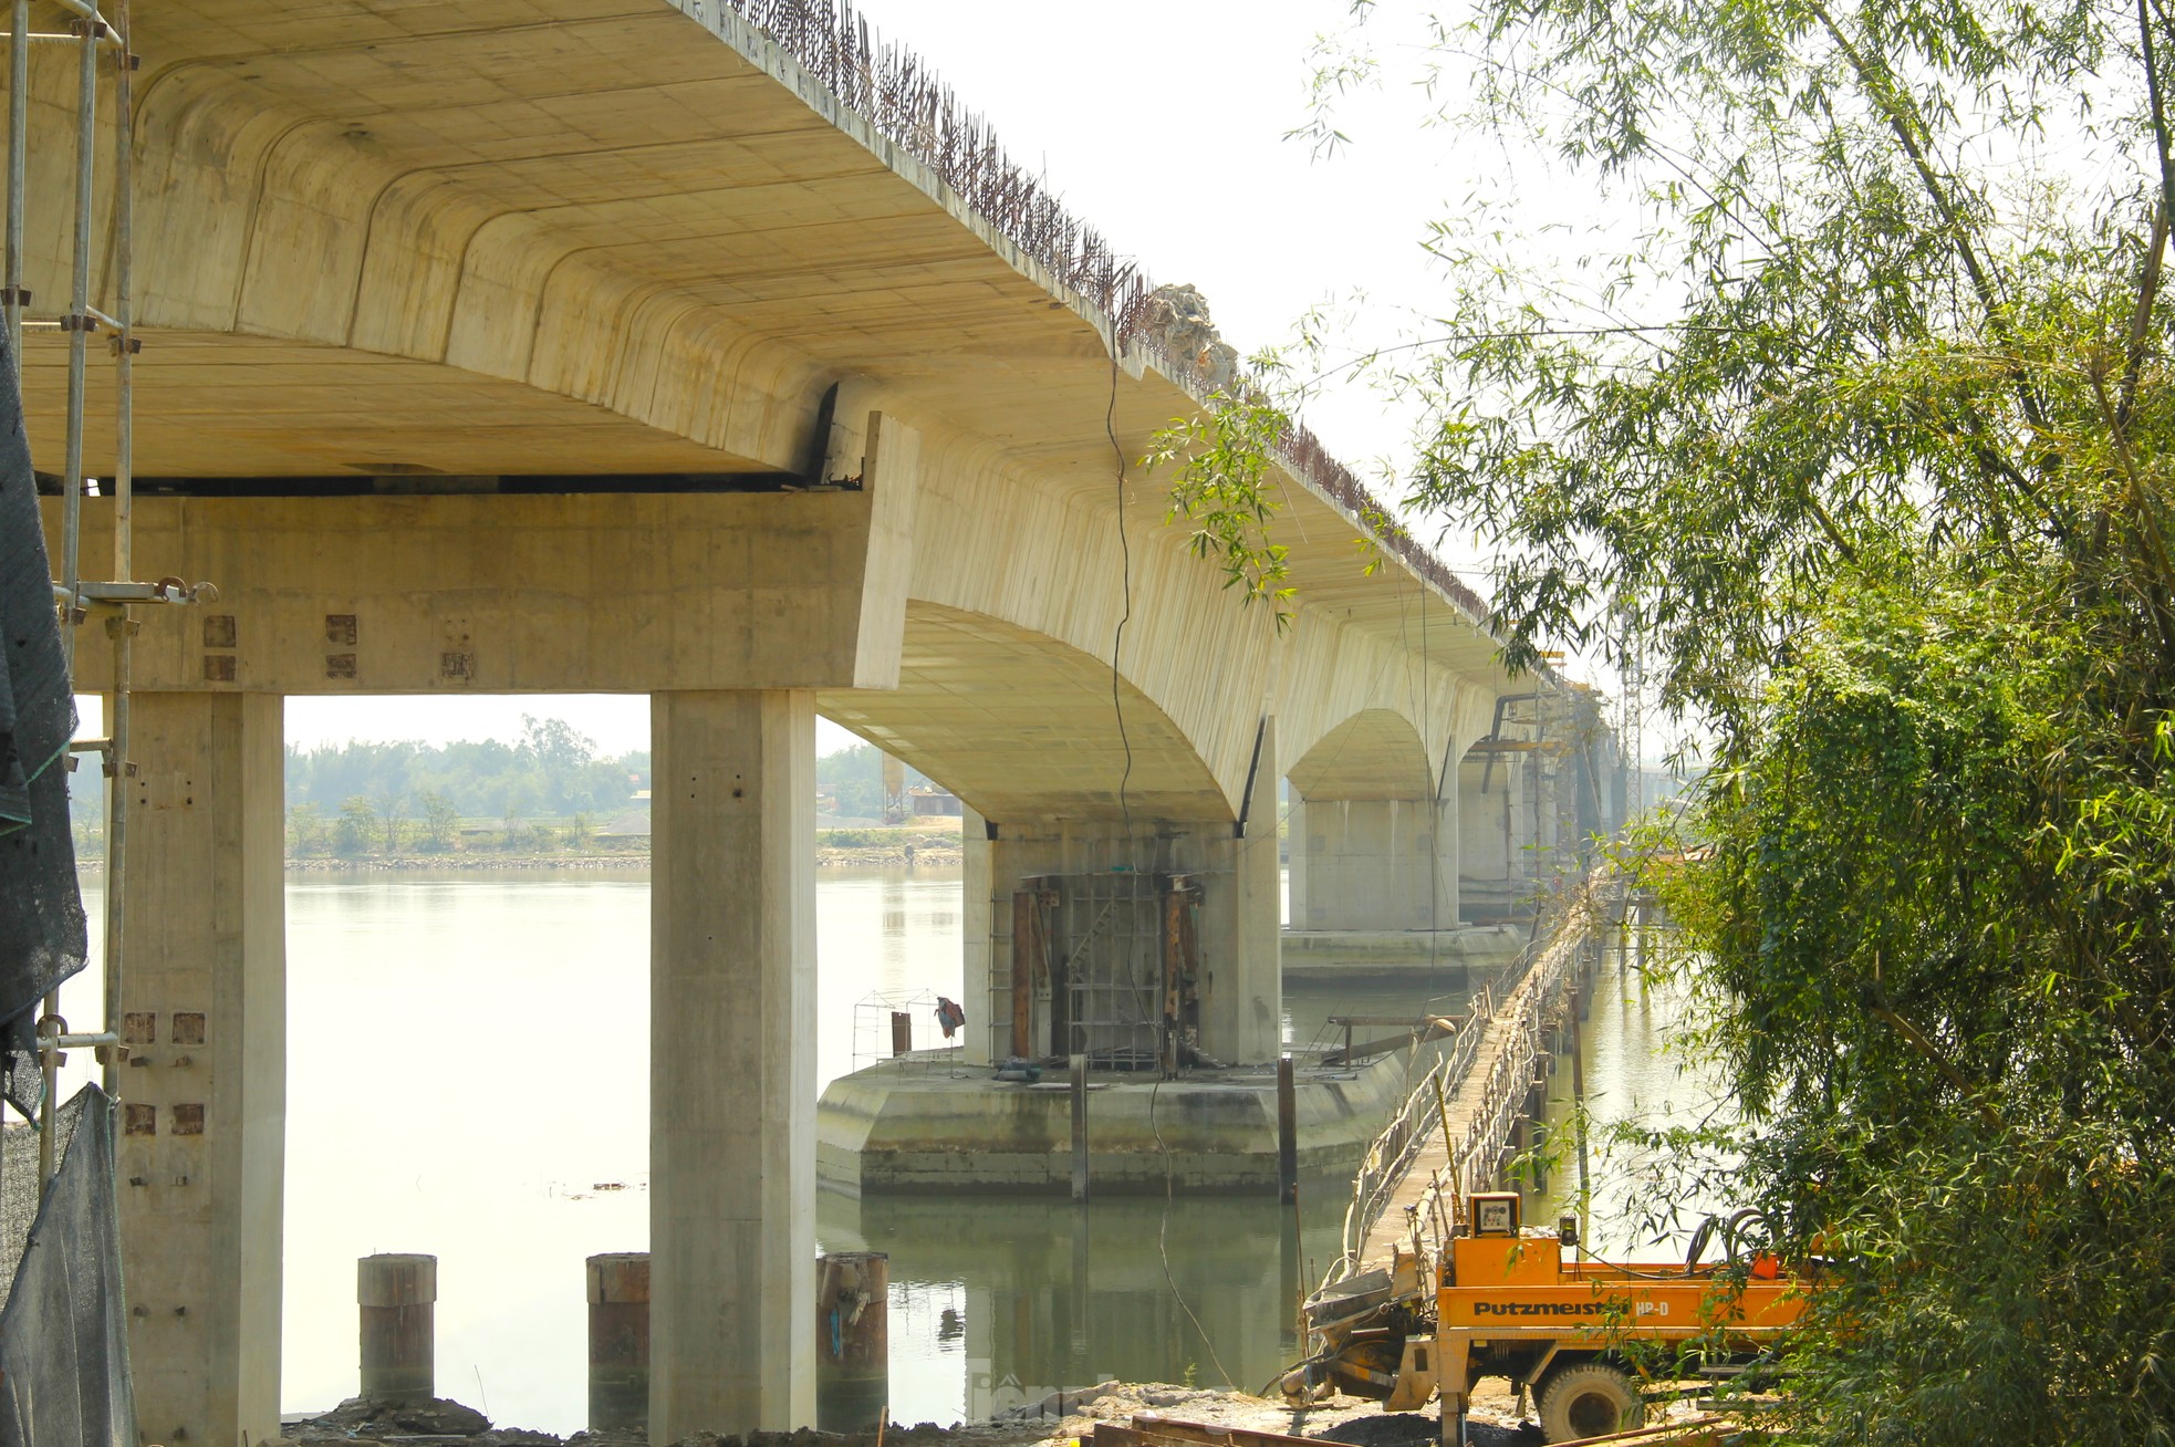
<path id="1" fill-rule="evenodd" d="M 115 1177 L 150 1443 L 278 1440 L 281 729 L 274 694 L 135 694 Z"/>

